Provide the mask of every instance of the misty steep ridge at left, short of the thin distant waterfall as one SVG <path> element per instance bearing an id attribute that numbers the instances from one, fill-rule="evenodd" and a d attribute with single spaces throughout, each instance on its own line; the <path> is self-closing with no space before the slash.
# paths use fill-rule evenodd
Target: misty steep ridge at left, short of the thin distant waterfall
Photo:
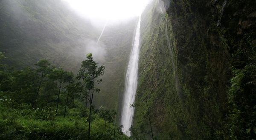
<path id="1" fill-rule="evenodd" d="M 97 35 L 88 20 L 59 0 L 2 0 L 0 7 L 0 48 L 15 67 L 48 58 L 58 67 L 77 70 L 85 40 Z"/>

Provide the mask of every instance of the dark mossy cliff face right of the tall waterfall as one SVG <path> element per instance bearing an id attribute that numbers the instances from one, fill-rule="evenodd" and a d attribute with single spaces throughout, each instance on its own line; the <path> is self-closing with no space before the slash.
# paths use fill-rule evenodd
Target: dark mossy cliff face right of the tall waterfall
<path id="1" fill-rule="evenodd" d="M 163 0 L 146 8 L 134 137 L 149 137 L 150 123 L 158 139 L 255 137 L 255 5 Z"/>

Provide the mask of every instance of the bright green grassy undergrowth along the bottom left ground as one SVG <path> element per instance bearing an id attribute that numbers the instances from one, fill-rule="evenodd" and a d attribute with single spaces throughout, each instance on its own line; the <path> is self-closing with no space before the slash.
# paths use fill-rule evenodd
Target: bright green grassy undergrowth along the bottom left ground
<path id="1" fill-rule="evenodd" d="M 78 109 L 68 109 L 70 112 L 66 118 L 62 115 L 54 116 L 51 120 L 40 120 L 35 118 L 35 111 L 32 109 L 26 115 L 22 115 L 22 109 L 12 109 L 1 106 L 3 111 L 0 114 L 0 139 L 14 140 L 84 140 L 87 139 L 88 123 L 87 118 L 79 115 Z M 60 110 L 61 111 L 61 110 Z M 97 114 L 91 123 L 92 140 L 128 140 L 122 132 L 116 129 L 116 137 L 113 134 L 113 125 L 107 123 Z"/>

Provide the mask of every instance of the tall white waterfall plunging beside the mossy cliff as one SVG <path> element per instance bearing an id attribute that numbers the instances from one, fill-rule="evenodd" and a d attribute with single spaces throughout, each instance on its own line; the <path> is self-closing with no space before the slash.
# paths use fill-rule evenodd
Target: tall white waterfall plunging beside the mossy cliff
<path id="1" fill-rule="evenodd" d="M 139 61 L 139 51 L 140 51 L 140 18 L 137 24 L 136 34 L 134 37 L 134 44 L 131 50 L 130 61 L 125 77 L 125 92 L 123 97 L 123 108 L 122 108 L 122 118 L 121 124 L 123 127 L 123 132 L 127 132 L 130 136 L 131 132 L 129 128 L 133 122 L 134 108 L 131 108 L 129 104 L 134 103 L 135 95 L 138 83 L 138 61 Z"/>

